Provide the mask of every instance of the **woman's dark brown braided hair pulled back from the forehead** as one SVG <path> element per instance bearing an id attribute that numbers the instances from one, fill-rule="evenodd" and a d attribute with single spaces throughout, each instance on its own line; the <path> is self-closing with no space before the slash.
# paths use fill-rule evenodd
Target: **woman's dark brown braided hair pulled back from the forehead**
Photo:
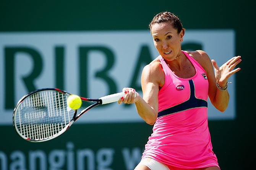
<path id="1" fill-rule="evenodd" d="M 173 28 L 177 29 L 178 33 L 180 33 L 181 30 L 183 29 L 183 26 L 182 26 L 178 16 L 176 16 L 175 14 L 170 13 L 168 11 L 165 11 L 165 12 L 156 14 L 156 16 L 154 16 L 154 18 L 152 19 L 152 21 L 149 24 L 150 32 L 151 32 L 152 25 L 160 24 L 163 22 L 170 22 L 170 24 L 172 24 Z M 184 29 L 184 31 L 185 31 L 185 29 Z"/>

